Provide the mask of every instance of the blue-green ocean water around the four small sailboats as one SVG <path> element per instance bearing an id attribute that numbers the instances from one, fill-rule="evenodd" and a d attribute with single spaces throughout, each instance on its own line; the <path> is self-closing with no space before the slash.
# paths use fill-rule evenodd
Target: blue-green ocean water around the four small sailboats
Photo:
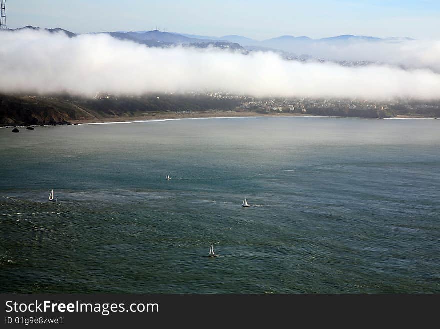
<path id="1" fill-rule="evenodd" d="M 440 292 L 440 120 L 0 129 L 0 177 L 0 292 Z"/>

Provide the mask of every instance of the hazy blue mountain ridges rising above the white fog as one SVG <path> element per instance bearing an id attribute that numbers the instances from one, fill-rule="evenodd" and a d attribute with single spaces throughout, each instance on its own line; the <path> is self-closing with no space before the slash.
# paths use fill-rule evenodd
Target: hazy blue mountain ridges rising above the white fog
<path id="1" fill-rule="evenodd" d="M 41 30 L 39 27 L 25 26 L 15 30 L 23 29 Z M 44 29 L 51 33 L 64 32 L 70 38 L 78 34 L 61 28 Z M 149 47 L 170 47 L 174 45 L 181 45 L 183 47 L 215 47 L 224 50 L 240 51 L 243 54 L 248 54 L 252 51 L 272 51 L 278 53 L 287 60 L 298 61 L 332 61 L 337 62 L 342 66 L 364 66 L 373 62 L 362 59 L 350 61 L 346 58 L 337 58 L 328 56 L 326 49 L 337 47 L 355 45 L 358 42 L 364 43 L 399 43 L 402 41 L 413 40 L 411 38 L 377 38 L 370 36 L 355 36 L 355 35 L 341 35 L 335 37 L 312 39 L 306 36 L 280 36 L 267 40 L 254 40 L 239 35 L 227 35 L 222 37 L 202 36 L 194 34 L 184 34 L 175 32 L 164 32 L 159 30 L 151 31 L 114 31 L 114 32 L 92 32 L 90 34 L 107 34 L 113 38 L 120 40 L 131 40 L 136 43 L 144 44 Z"/>

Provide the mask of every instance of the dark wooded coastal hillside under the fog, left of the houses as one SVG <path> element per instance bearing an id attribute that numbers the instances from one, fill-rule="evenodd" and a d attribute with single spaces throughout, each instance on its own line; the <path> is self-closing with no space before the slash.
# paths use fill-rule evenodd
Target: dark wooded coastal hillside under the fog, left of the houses
<path id="1" fill-rule="evenodd" d="M 237 99 L 193 95 L 71 96 L 0 95 L 0 125 L 69 124 L 72 120 L 147 115 L 154 112 L 233 110 Z"/>

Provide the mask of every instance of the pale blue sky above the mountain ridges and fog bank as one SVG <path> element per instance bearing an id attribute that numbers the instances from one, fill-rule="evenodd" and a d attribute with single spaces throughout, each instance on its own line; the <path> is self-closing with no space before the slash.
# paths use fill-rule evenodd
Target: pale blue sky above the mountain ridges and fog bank
<path id="1" fill-rule="evenodd" d="M 440 0 L 7 0 L 9 28 L 150 30 L 257 40 L 341 34 L 440 39 Z"/>

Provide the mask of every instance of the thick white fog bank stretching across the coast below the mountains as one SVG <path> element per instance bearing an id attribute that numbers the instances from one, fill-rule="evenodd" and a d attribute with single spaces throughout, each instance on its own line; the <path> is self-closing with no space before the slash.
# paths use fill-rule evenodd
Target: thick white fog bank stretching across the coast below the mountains
<path id="1" fill-rule="evenodd" d="M 435 42 L 417 46 L 417 54 L 413 48 L 401 50 L 399 44 L 398 52 L 383 50 L 383 59 L 376 54 L 375 60 L 389 64 L 365 67 L 287 61 L 271 52 L 148 48 L 103 34 L 68 38 L 25 30 L 1 32 L 0 42 L 2 93 L 94 96 L 227 90 L 253 96 L 440 98 L 440 45 Z M 348 60 L 355 51 L 347 52 Z M 362 47 L 358 51 L 366 52 Z"/>

